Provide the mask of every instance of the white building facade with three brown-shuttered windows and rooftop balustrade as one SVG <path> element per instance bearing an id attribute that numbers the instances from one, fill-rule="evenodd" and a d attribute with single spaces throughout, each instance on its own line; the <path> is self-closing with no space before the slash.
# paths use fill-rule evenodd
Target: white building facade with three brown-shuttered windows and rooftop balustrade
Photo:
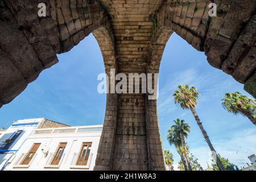
<path id="1" fill-rule="evenodd" d="M 102 127 L 34 129 L 5 170 L 93 170 Z"/>

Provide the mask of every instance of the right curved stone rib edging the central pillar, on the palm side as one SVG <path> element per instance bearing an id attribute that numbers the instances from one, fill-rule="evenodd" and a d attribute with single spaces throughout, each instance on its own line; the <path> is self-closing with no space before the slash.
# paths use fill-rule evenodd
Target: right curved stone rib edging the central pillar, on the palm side
<path id="1" fill-rule="evenodd" d="M 159 73 L 164 47 L 172 32 L 172 29 L 167 26 L 162 26 L 154 32 L 149 45 L 147 73 Z M 153 88 L 158 86 L 154 85 L 154 81 L 152 85 Z M 147 94 L 145 97 L 145 106 L 148 166 L 150 170 L 164 170 L 164 154 L 159 131 L 157 100 L 148 99 Z"/>

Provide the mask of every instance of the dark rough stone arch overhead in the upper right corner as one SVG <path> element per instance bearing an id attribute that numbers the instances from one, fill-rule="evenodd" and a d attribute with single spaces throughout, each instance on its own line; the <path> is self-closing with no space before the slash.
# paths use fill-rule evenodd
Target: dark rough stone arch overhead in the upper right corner
<path id="1" fill-rule="evenodd" d="M 165 1 L 158 10 L 158 27 L 167 26 L 198 51 L 208 63 L 245 84 L 255 95 L 256 2 L 214 1 L 217 16 L 209 16 L 210 1 Z"/>

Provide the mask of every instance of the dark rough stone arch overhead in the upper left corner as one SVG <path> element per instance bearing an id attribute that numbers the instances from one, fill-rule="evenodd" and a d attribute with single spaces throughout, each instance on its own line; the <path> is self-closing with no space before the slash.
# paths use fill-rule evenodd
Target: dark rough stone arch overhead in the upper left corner
<path id="1" fill-rule="evenodd" d="M 46 16 L 37 14 L 46 4 Z M 98 1 L 0 1 L 0 107 L 18 96 L 44 69 L 108 22 Z"/>

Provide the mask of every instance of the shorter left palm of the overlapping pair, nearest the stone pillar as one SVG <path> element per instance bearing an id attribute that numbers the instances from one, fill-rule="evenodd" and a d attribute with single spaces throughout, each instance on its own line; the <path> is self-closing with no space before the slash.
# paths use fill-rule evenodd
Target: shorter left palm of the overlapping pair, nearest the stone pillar
<path id="1" fill-rule="evenodd" d="M 184 169 L 185 171 L 188 171 L 187 165 L 185 163 L 185 159 L 184 159 L 184 152 L 183 152 L 183 148 L 182 146 L 182 142 L 181 142 L 181 137 L 180 135 L 177 135 L 177 133 L 174 131 L 173 128 L 170 128 L 167 131 L 167 140 L 170 143 L 170 145 L 174 144 L 174 146 L 176 147 L 177 153 L 180 155 L 180 159 L 183 163 Z"/>

